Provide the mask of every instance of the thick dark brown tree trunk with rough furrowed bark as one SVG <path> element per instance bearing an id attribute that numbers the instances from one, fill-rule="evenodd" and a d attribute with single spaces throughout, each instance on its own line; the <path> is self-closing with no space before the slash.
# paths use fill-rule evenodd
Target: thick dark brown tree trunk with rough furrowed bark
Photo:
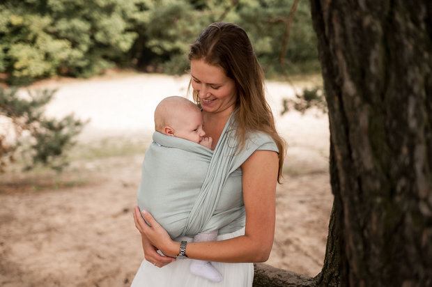
<path id="1" fill-rule="evenodd" d="M 334 194 L 314 284 L 432 286 L 432 1 L 311 0 L 311 14 Z"/>

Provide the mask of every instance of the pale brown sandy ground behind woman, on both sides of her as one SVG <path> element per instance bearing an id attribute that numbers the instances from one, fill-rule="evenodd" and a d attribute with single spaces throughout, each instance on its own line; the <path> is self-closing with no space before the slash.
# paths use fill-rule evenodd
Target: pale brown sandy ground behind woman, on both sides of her
<path id="1" fill-rule="evenodd" d="M 109 137 L 144 145 L 155 105 L 167 95 L 185 95 L 187 77 L 113 75 L 31 88 L 59 88 L 50 116 L 73 112 L 91 119 L 80 144 Z M 284 97 L 293 97 L 291 86 L 268 83 L 277 127 L 289 145 L 268 264 L 314 276 L 323 263 L 332 205 L 327 116 L 279 116 Z M 42 191 L 22 188 L 40 181 L 37 175 L 0 176 L 0 286 L 129 286 L 143 258 L 132 219 L 143 157 L 76 160 L 65 174 L 79 174 L 83 184 Z"/>

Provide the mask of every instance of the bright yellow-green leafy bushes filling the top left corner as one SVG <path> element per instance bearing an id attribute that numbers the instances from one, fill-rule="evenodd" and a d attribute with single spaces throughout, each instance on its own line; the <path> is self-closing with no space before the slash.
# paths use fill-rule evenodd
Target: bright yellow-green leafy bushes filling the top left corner
<path id="1" fill-rule="evenodd" d="M 87 77 L 115 65 L 138 36 L 128 18 L 138 2 L 3 1 L 0 72 L 26 84 L 56 74 Z"/>

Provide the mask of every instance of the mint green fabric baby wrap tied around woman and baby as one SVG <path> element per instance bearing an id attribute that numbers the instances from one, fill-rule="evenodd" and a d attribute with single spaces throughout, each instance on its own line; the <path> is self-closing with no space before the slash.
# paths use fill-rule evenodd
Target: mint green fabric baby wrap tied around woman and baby
<path id="1" fill-rule="evenodd" d="M 140 210 L 148 210 L 173 239 L 213 230 L 230 233 L 245 226 L 240 166 L 255 150 L 278 150 L 268 134 L 255 132 L 236 153 L 238 142 L 229 123 L 214 151 L 153 133 L 137 201 Z"/>

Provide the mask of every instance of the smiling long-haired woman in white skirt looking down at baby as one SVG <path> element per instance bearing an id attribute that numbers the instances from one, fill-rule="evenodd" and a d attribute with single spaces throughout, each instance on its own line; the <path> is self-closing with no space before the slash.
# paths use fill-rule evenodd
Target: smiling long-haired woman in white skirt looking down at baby
<path id="1" fill-rule="evenodd" d="M 219 230 L 217 241 L 171 240 L 151 214 L 143 212 L 148 226 L 136 208 L 134 221 L 145 260 L 132 286 L 252 286 L 252 263 L 267 261 L 272 249 L 284 140 L 276 132 L 265 100 L 263 70 L 243 29 L 231 23 L 210 24 L 191 46 L 189 60 L 193 97 L 202 109 L 206 134 L 213 138 L 211 149 L 216 152 L 226 144 L 237 155 L 254 146 L 256 134 L 265 134 L 272 146 L 258 143 L 240 164 L 240 173 L 229 174 L 217 205 L 223 211 L 224 204 L 241 201 L 245 212 L 222 226 L 228 228 Z M 236 146 L 222 143 L 226 134 L 235 137 Z M 187 260 L 176 260 L 178 255 L 214 262 L 223 281 L 215 284 L 190 275 Z"/>

